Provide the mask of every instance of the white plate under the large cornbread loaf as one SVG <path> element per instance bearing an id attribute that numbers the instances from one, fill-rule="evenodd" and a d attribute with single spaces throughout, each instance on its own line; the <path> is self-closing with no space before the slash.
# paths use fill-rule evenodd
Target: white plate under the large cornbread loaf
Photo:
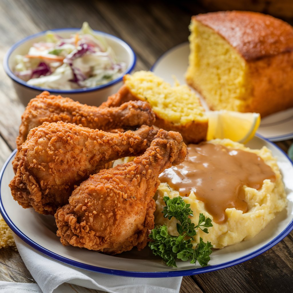
<path id="1" fill-rule="evenodd" d="M 180 84 L 186 84 L 184 75 L 188 67 L 189 52 L 188 42 L 177 45 L 164 53 L 151 71 L 170 84 L 174 84 L 173 76 L 176 76 Z M 202 97 L 201 102 L 209 110 Z M 274 142 L 293 138 L 293 108 L 263 118 L 257 133 Z"/>

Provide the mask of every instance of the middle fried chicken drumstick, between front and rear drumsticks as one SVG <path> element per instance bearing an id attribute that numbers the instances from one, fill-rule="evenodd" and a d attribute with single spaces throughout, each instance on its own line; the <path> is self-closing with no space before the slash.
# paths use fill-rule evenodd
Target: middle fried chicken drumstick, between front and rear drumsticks
<path id="1" fill-rule="evenodd" d="M 33 128 L 21 147 L 21 161 L 9 184 L 15 200 L 40 214 L 68 203 L 74 185 L 110 161 L 142 154 L 158 130 L 104 132 L 65 122 Z"/>

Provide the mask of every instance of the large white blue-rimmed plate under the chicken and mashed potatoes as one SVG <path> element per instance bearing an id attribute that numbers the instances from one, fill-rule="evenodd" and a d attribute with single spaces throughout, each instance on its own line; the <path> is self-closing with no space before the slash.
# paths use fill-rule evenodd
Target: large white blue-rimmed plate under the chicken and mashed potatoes
<path id="1" fill-rule="evenodd" d="M 167 267 L 162 260 L 152 255 L 148 247 L 142 252 L 133 249 L 110 256 L 84 248 L 63 246 L 56 236 L 57 228 L 53 216 L 40 215 L 32 208 L 23 209 L 13 200 L 8 184 L 14 176 L 11 161 L 15 151 L 0 173 L 1 214 L 10 228 L 33 248 L 51 258 L 86 270 L 132 277 L 175 277 L 226 268 L 263 253 L 281 241 L 293 228 L 292 162 L 281 149 L 267 140 L 254 137 L 247 145 L 258 149 L 265 145 L 277 157 L 286 186 L 288 207 L 277 213 L 276 218 L 253 239 L 215 250 L 206 267 L 182 261 L 177 262 L 178 268 Z"/>

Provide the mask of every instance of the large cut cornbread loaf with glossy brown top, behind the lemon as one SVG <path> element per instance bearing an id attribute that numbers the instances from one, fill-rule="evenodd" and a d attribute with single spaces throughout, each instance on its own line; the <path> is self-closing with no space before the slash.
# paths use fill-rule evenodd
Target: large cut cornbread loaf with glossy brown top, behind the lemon
<path id="1" fill-rule="evenodd" d="M 220 11 L 193 16 L 187 83 L 212 110 L 293 106 L 293 28 L 269 15 Z"/>

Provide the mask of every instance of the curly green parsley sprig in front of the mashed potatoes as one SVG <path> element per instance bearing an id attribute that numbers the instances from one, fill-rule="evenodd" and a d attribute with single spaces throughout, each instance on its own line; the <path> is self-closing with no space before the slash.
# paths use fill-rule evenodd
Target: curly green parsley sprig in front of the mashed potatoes
<path id="1" fill-rule="evenodd" d="M 182 197 L 170 199 L 168 196 L 164 196 L 163 200 L 166 202 L 166 207 L 162 211 L 164 217 L 169 220 L 174 217 L 180 222 L 180 224 L 177 223 L 179 236 L 170 235 L 165 225 L 151 230 L 149 247 L 154 255 L 161 256 L 166 265 L 176 268 L 176 259 L 190 260 L 190 263 L 198 261 L 202 266 L 207 265 L 210 260 L 209 255 L 212 253 L 211 243 L 205 243 L 200 237 L 200 242 L 193 249 L 191 241 L 194 240 L 193 236 L 196 235 L 197 229 L 209 233 L 207 227 L 213 226 L 212 220 L 200 214 L 198 224 L 195 226 L 190 219 L 190 216 L 193 217 L 193 211 L 189 208 L 190 204 L 185 204 Z"/>

